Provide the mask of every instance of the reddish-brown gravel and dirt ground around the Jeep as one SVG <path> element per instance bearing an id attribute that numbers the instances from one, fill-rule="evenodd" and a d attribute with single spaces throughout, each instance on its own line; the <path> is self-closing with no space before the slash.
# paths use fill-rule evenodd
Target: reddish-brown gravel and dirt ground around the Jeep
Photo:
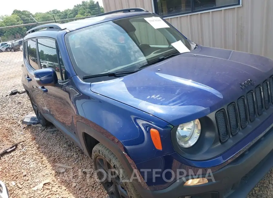
<path id="1" fill-rule="evenodd" d="M 10 197 L 107 197 L 94 175 L 92 160 L 59 130 L 20 124 L 23 116 L 34 113 L 26 93 L 2 97 L 12 89 L 23 89 L 20 57 L 20 51 L 0 53 L 0 152 L 21 142 L 0 159 L 0 180 Z M 273 197 L 273 169 L 248 197 Z"/>

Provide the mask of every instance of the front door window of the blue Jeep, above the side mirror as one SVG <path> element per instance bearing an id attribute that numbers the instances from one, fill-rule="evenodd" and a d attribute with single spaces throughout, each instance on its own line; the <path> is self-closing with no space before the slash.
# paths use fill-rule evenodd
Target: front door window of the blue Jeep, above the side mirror
<path id="1" fill-rule="evenodd" d="M 59 80 L 63 80 L 58 64 L 56 42 L 48 38 L 38 38 L 39 57 L 42 68 L 53 68 Z M 61 67 L 64 72 L 64 67 Z"/>

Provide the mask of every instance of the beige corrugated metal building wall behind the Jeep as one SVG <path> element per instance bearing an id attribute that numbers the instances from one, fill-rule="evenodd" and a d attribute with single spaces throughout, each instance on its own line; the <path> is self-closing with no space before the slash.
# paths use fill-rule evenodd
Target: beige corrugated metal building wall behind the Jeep
<path id="1" fill-rule="evenodd" d="M 153 11 L 152 0 L 103 0 L 106 12 L 122 8 Z M 242 0 L 242 6 L 167 18 L 201 45 L 245 51 L 273 59 L 273 0 Z"/>

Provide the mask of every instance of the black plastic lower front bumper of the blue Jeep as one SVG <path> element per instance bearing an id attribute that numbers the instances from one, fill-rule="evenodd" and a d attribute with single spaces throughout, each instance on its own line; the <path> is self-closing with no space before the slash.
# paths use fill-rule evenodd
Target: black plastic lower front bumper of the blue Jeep
<path id="1" fill-rule="evenodd" d="M 184 186 L 184 181 L 180 179 L 179 182 L 174 182 L 166 189 L 151 191 L 152 197 L 246 197 L 252 188 L 273 167 L 272 130 L 271 128 L 236 160 L 224 168 L 213 172 L 215 182 L 196 186 Z"/>

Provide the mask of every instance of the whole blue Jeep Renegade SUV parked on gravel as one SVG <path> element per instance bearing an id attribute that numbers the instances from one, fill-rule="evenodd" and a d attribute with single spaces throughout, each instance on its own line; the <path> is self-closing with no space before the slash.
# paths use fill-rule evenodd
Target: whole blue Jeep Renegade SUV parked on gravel
<path id="1" fill-rule="evenodd" d="M 41 30 L 39 30 L 41 29 Z M 196 45 L 123 9 L 40 25 L 22 83 L 110 197 L 245 197 L 273 164 L 273 61 Z"/>

